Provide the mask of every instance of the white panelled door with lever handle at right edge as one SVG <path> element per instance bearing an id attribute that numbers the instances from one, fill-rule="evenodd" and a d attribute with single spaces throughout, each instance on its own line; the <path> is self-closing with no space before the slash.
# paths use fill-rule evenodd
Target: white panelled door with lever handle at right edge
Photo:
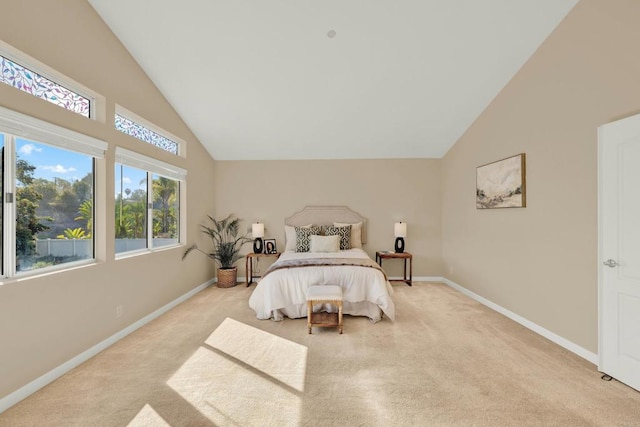
<path id="1" fill-rule="evenodd" d="M 640 390 L 640 115 L 598 129 L 598 369 Z"/>

